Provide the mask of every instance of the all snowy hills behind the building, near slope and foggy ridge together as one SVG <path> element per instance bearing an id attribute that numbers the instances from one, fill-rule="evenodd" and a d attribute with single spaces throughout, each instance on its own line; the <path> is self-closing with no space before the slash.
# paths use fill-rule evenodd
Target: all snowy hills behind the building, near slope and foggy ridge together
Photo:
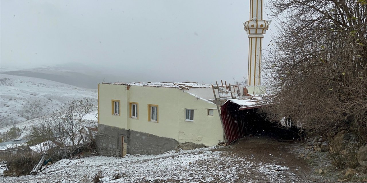
<path id="1" fill-rule="evenodd" d="M 86 97 L 97 105 L 98 83 L 146 81 L 79 63 L 1 67 L 0 73 L 0 128 L 51 114 L 72 99 Z"/>

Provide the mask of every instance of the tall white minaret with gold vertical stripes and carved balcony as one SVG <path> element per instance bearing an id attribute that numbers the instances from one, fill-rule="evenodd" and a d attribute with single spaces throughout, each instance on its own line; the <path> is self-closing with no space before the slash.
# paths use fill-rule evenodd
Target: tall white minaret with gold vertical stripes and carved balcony
<path id="1" fill-rule="evenodd" d="M 248 86 L 261 85 L 262 38 L 271 20 L 263 20 L 263 0 L 250 0 L 250 20 L 243 25 L 250 39 L 248 44 Z"/>

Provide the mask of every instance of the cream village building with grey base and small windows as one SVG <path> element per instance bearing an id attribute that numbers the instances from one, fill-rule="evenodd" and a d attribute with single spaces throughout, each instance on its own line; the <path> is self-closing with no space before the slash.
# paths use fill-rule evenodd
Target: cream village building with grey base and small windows
<path id="1" fill-rule="evenodd" d="M 97 150 L 106 156 L 213 146 L 224 133 L 211 85 L 101 83 Z"/>

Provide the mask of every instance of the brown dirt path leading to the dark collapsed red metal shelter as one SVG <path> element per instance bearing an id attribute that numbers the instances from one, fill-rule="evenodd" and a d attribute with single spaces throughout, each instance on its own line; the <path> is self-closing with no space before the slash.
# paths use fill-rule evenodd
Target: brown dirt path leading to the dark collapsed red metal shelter
<path id="1" fill-rule="evenodd" d="M 252 165 L 280 165 L 287 168 L 274 168 L 276 173 L 246 172 L 239 176 L 239 182 L 327 182 L 313 173 L 312 168 L 297 154 L 291 152 L 298 146 L 297 142 L 279 142 L 270 137 L 244 137 L 223 150 L 227 156 L 237 156 L 250 160 Z M 241 162 L 239 162 L 241 163 Z M 255 168 L 255 167 L 253 167 Z M 258 167 L 261 169 L 261 167 Z M 334 182 L 334 181 L 332 181 Z"/>

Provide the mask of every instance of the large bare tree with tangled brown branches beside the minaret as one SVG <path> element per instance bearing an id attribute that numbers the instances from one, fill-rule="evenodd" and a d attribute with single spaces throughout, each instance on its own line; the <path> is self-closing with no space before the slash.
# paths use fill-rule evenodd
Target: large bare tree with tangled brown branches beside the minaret
<path id="1" fill-rule="evenodd" d="M 270 0 L 279 22 L 264 60 L 264 108 L 312 132 L 352 130 L 367 141 L 366 0 Z"/>

